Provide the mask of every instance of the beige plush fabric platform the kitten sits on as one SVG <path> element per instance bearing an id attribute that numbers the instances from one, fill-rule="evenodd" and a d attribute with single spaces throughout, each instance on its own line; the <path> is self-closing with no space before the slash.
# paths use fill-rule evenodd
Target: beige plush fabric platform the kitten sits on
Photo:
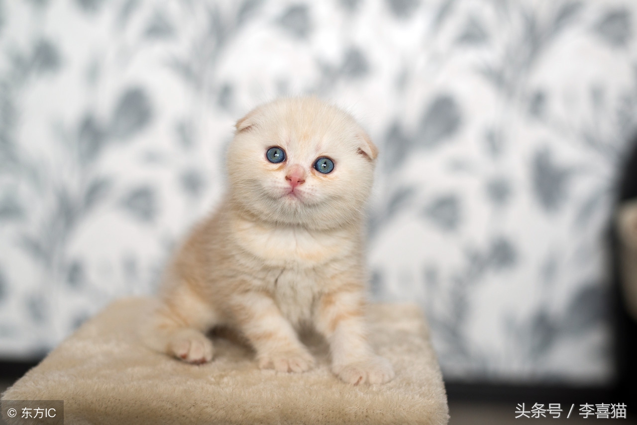
<path id="1" fill-rule="evenodd" d="M 370 339 L 396 378 L 349 386 L 329 371 L 327 345 L 308 335 L 317 368 L 262 371 L 239 341 L 213 337 L 215 359 L 194 366 L 138 341 L 150 298 L 112 303 L 62 342 L 3 400 L 64 400 L 66 423 L 87 424 L 446 424 L 447 396 L 415 305 L 369 308 Z M 11 422 L 9 422 L 11 423 Z"/>

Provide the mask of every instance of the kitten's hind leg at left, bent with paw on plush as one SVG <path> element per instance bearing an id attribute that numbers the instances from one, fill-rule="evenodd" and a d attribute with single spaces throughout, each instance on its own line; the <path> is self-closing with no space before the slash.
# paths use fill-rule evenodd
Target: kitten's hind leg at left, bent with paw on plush
<path id="1" fill-rule="evenodd" d="M 212 342 L 204 332 L 217 320 L 214 310 L 186 285 L 175 288 L 143 324 L 148 347 L 170 356 L 201 364 L 213 356 Z"/>

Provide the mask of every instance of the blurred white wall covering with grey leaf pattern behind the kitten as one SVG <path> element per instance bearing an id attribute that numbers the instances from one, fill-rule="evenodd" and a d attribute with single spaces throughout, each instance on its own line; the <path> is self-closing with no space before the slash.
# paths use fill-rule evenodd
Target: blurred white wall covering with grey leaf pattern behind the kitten
<path id="1" fill-rule="evenodd" d="M 636 13 L 631 0 L 0 0 L 4 373 L 111 300 L 152 293 L 220 199 L 234 122 L 316 94 L 380 148 L 371 296 L 423 307 L 450 400 L 616 388 L 634 338 L 609 235 L 637 124 Z"/>

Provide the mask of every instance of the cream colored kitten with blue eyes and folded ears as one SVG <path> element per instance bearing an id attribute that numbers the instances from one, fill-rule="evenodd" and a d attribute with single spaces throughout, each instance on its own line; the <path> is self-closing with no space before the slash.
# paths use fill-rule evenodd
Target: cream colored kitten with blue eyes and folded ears
<path id="1" fill-rule="evenodd" d="M 229 189 L 173 258 L 147 343 L 204 363 L 204 333 L 226 325 L 248 338 L 259 367 L 303 372 L 314 359 L 296 331 L 311 324 L 340 379 L 392 379 L 364 324 L 363 209 L 376 155 L 350 115 L 317 99 L 271 102 L 239 120 Z"/>

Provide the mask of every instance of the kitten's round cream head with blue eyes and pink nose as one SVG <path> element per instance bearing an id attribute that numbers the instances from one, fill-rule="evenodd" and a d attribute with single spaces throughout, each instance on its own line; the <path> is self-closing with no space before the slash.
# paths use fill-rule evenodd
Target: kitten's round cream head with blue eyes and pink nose
<path id="1" fill-rule="evenodd" d="M 283 225 L 357 221 L 378 151 L 352 116 L 315 98 L 281 99 L 236 123 L 228 150 L 231 199 Z"/>

